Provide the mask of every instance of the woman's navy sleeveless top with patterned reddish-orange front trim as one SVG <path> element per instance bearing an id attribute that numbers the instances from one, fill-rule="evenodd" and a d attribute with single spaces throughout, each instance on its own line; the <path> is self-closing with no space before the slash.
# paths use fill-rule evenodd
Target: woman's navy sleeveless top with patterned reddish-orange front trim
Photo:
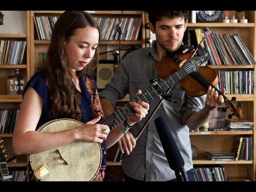
<path id="1" fill-rule="evenodd" d="M 94 79 L 90 75 L 85 75 L 79 78 L 79 84 L 81 86 L 81 91 L 82 91 L 82 93 L 78 91 L 81 94 L 81 103 L 79 107 L 82 113 L 82 119 L 78 121 L 86 123 L 99 115 L 101 116 L 101 119 L 104 118 L 103 111 L 100 105 L 98 87 Z M 53 119 L 49 115 L 52 106 L 51 106 L 51 100 L 50 100 L 51 92 L 47 85 L 48 85 L 48 82 L 47 82 L 46 76 L 44 75 L 44 73 L 39 72 L 30 78 L 30 80 L 26 84 L 25 89 L 23 91 L 23 95 L 24 95 L 28 87 L 31 86 L 43 99 L 43 102 L 44 102 L 43 111 L 39 119 L 39 122 L 37 124 L 36 130 L 44 123 L 49 122 L 50 120 Z M 69 118 L 69 117 L 60 117 L 60 118 Z M 106 140 L 104 140 L 101 143 L 101 146 L 104 148 L 104 151 L 102 154 L 103 155 L 102 162 L 101 162 L 100 170 L 97 173 L 96 177 L 93 179 L 93 181 L 103 181 L 105 177 L 106 164 L 107 164 Z"/>

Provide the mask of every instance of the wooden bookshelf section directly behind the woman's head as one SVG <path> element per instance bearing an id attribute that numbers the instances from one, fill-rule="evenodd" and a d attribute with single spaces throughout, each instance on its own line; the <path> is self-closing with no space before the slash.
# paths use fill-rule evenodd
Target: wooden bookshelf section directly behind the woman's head
<path id="1" fill-rule="evenodd" d="M 31 53 L 34 53 L 34 54 L 31 54 L 31 58 L 30 58 L 31 75 L 34 74 L 38 69 L 38 66 L 41 65 L 40 62 L 42 62 L 42 52 L 47 51 L 47 47 L 50 43 L 50 40 L 40 40 L 40 38 L 38 37 L 34 17 L 50 16 L 50 17 L 58 18 L 59 15 L 63 12 L 64 11 L 30 11 L 30 36 L 31 36 L 30 45 L 31 45 Z M 138 38 L 136 41 L 125 41 L 125 40 L 119 41 L 119 39 L 115 39 L 114 41 L 113 40 L 106 41 L 105 38 L 103 38 L 104 41 L 100 41 L 100 46 L 99 46 L 100 60 L 107 60 L 107 59 L 113 60 L 110 50 L 114 50 L 118 48 L 122 50 L 129 46 L 137 46 L 138 48 L 145 46 L 145 30 L 142 30 L 145 28 L 145 17 L 144 17 L 145 13 L 143 11 L 88 11 L 88 12 L 91 13 L 95 19 L 97 18 L 110 18 L 110 19 L 111 18 L 119 18 L 119 19 L 141 18 L 141 25 L 139 29 Z M 98 23 L 100 24 L 101 22 L 99 21 Z M 115 25 L 116 23 L 118 22 L 116 21 Z M 111 29 L 111 30 L 114 30 L 114 29 Z M 122 54 L 123 53 L 121 51 L 121 55 Z M 95 76 L 95 74 L 93 75 Z"/>

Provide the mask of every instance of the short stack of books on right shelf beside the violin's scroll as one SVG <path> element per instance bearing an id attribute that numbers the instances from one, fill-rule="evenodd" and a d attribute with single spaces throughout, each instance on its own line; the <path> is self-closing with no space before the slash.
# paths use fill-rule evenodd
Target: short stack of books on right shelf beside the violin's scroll
<path id="1" fill-rule="evenodd" d="M 248 131 L 253 130 L 253 121 L 242 119 L 227 119 L 227 128 L 230 131 Z"/>

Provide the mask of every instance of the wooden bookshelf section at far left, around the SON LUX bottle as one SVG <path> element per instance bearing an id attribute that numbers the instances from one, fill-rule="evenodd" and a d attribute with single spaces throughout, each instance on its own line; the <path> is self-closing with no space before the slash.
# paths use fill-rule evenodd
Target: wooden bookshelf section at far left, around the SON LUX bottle
<path id="1" fill-rule="evenodd" d="M 3 20 L 4 25 L 1 26 L 2 28 L 0 27 L 1 44 L 8 41 L 19 43 L 17 43 L 16 48 L 13 43 L 14 49 L 11 49 L 11 47 L 10 49 L 5 49 L 9 50 L 10 53 L 13 50 L 13 54 L 11 55 L 9 62 L 7 62 L 7 59 L 3 60 L 3 58 L 6 57 L 3 57 L 4 52 L 7 52 L 4 51 L 4 49 L 1 51 L 0 48 L 0 52 L 2 54 L 2 62 L 0 65 L 0 109 L 19 109 L 22 101 L 22 95 L 7 94 L 7 76 L 13 75 L 14 69 L 19 69 L 22 76 L 26 77 L 26 79 L 30 78 L 30 11 L 3 11 L 3 14 L 5 17 Z M 22 49 L 20 42 L 26 42 Z M 24 51 L 23 54 L 21 50 Z M 23 58 L 18 59 L 21 55 Z M 19 60 L 19 62 L 14 62 L 15 58 L 17 58 L 16 61 Z M 12 133 L 0 133 L 0 137 L 4 140 L 7 155 L 9 155 L 9 158 L 12 158 L 14 156 L 12 151 Z M 26 156 L 18 156 L 16 159 L 9 162 L 7 166 L 9 167 L 9 171 L 26 169 Z"/>

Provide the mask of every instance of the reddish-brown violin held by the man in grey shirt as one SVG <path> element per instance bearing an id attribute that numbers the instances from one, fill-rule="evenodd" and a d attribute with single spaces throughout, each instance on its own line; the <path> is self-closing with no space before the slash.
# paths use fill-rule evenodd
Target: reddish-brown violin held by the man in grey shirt
<path id="1" fill-rule="evenodd" d="M 174 74 L 180 68 L 182 68 L 183 64 L 189 59 L 189 62 L 193 62 L 193 57 L 201 56 L 208 51 L 202 47 L 200 44 L 198 45 L 197 49 L 194 51 L 190 48 L 184 50 L 184 47 L 181 46 L 180 49 L 173 53 L 167 53 L 165 57 L 157 63 L 156 71 L 160 78 L 165 79 L 169 77 L 171 74 Z M 180 85 L 185 90 L 185 92 L 190 95 L 191 97 L 199 97 L 207 93 L 208 87 L 211 85 L 218 91 L 219 95 L 222 95 L 224 101 L 227 105 L 226 108 L 222 108 L 222 111 L 226 112 L 227 108 L 233 112 L 233 114 L 229 114 L 228 118 L 232 118 L 235 115 L 238 118 L 242 118 L 242 104 L 238 103 L 235 107 L 234 103 L 231 101 L 235 101 L 236 98 L 233 97 L 231 101 L 215 87 L 219 82 L 219 77 L 217 72 L 213 69 L 205 66 L 200 66 L 195 72 L 192 72 L 182 79 L 180 79 Z"/>

